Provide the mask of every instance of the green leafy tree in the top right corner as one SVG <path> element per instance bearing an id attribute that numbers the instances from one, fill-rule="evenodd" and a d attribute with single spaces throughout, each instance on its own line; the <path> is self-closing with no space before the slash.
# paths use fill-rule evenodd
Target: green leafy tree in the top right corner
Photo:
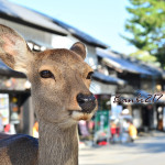
<path id="1" fill-rule="evenodd" d="M 139 51 L 148 52 L 148 61 L 155 56 L 165 68 L 165 0 L 129 1 L 131 6 L 127 10 L 131 16 L 125 22 L 125 30 L 132 36 L 123 37 Z"/>

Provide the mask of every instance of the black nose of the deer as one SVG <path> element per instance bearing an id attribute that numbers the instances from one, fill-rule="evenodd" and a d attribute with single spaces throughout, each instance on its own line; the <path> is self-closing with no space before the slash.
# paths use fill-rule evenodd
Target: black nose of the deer
<path id="1" fill-rule="evenodd" d="M 90 113 L 96 108 L 96 98 L 94 95 L 87 96 L 82 94 L 77 95 L 77 102 L 85 113 Z"/>

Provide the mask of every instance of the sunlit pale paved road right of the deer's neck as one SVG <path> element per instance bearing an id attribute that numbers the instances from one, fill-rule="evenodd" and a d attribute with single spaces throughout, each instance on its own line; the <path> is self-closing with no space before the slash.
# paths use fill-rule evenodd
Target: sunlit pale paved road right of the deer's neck
<path id="1" fill-rule="evenodd" d="M 142 138 L 130 144 L 85 147 L 79 165 L 165 165 L 165 134 Z"/>

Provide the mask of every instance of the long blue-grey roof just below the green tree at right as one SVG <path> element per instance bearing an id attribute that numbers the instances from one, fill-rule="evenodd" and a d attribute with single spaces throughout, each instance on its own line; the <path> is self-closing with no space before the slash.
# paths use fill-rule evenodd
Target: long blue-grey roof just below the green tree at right
<path id="1" fill-rule="evenodd" d="M 122 54 L 97 48 L 97 55 L 102 58 L 102 62 L 118 72 L 128 72 L 147 76 L 163 76 L 164 72 L 161 68 L 150 66 L 138 59 L 127 57 Z"/>

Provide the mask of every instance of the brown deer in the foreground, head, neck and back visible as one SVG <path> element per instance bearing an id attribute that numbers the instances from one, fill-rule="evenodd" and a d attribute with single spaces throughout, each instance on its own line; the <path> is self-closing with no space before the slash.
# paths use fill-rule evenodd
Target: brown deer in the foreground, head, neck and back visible
<path id="1" fill-rule="evenodd" d="M 0 58 L 31 82 L 38 140 L 0 135 L 0 165 L 78 165 L 79 120 L 90 120 L 97 100 L 89 87 L 94 69 L 86 46 L 33 52 L 13 29 L 0 25 Z"/>

